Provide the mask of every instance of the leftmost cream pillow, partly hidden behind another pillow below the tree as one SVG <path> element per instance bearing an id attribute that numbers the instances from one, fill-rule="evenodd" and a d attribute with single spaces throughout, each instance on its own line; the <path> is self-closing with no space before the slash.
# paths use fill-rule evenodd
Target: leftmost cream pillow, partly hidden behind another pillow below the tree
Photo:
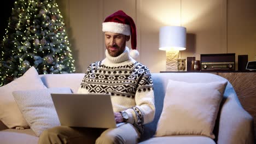
<path id="1" fill-rule="evenodd" d="M 28 124 L 22 116 L 15 100 L 13 91 L 25 91 L 31 89 L 46 88 L 38 76 L 37 70 L 31 67 L 18 79 L 0 87 L 0 120 L 8 127 L 28 128 Z"/>

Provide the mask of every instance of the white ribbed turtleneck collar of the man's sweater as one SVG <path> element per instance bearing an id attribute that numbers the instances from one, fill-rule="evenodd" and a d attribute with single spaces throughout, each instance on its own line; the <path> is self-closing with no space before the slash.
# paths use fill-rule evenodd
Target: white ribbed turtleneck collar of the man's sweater
<path id="1" fill-rule="evenodd" d="M 105 51 L 105 55 L 106 55 L 106 58 L 103 59 L 102 64 L 106 64 L 106 65 L 112 65 L 112 66 L 119 65 L 119 64 L 125 65 L 125 64 L 136 62 L 135 59 L 130 57 L 130 50 L 129 50 L 129 47 L 127 46 L 125 47 L 124 52 L 117 57 L 110 56 L 108 53 L 108 50 Z"/>

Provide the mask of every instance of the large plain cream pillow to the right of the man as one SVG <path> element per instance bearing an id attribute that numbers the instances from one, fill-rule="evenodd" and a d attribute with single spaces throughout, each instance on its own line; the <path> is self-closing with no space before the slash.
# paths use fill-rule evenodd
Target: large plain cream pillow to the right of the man
<path id="1" fill-rule="evenodd" d="M 155 136 L 205 135 L 214 139 L 213 128 L 226 84 L 169 80 Z"/>

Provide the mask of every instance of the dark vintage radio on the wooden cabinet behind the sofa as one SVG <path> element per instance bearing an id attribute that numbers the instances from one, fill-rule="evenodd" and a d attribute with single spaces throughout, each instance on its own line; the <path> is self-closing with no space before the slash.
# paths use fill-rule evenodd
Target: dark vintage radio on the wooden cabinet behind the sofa
<path id="1" fill-rule="evenodd" d="M 235 70 L 235 53 L 201 54 L 201 70 Z"/>

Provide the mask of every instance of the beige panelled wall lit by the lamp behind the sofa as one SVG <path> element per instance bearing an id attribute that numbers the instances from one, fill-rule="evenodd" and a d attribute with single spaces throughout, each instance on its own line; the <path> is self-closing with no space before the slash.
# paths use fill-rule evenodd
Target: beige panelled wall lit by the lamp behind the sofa
<path id="1" fill-rule="evenodd" d="M 206 53 L 256 55 L 256 1 L 254 0 L 57 0 L 65 17 L 77 73 L 104 58 L 101 31 L 104 18 L 121 9 L 137 26 L 137 61 L 152 73 L 165 71 L 165 51 L 158 49 L 159 28 L 187 28 L 187 50 L 179 57 Z M 130 41 L 127 43 L 130 46 Z M 237 63 L 237 62 L 236 62 Z M 236 65 L 237 69 L 237 65 Z"/>

